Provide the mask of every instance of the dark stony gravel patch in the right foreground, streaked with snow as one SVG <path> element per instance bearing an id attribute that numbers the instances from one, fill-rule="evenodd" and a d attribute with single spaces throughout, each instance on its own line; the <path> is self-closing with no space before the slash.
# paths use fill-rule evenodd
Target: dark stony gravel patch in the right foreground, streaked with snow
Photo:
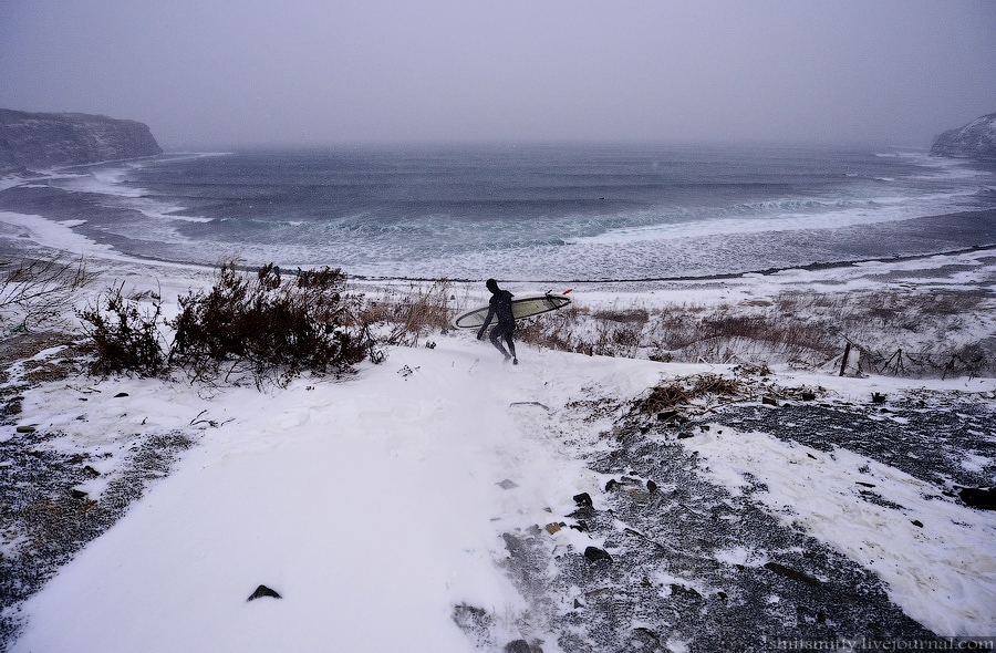
<path id="1" fill-rule="evenodd" d="M 604 493 L 591 505 L 575 497 L 578 509 L 549 525 L 505 533 L 506 571 L 530 604 L 517 623 L 522 639 L 507 645 L 706 653 L 862 638 L 950 643 L 890 601 L 874 571 L 766 510 L 754 497 L 762 485 L 733 495 L 705 480 L 687 443 L 723 425 L 756 429 L 850 448 L 954 496 L 993 477 L 994 413 L 989 401 L 914 394 L 889 406 L 735 403 L 664 423 L 623 419 L 611 450 L 590 464 L 610 478 Z M 563 529 L 603 543 L 582 552 Z M 466 605 L 455 613 L 479 646 L 501 650 L 494 616 Z"/>

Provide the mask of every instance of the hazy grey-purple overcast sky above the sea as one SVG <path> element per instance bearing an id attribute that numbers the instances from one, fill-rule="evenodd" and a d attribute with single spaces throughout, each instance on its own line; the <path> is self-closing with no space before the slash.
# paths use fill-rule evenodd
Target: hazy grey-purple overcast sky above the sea
<path id="1" fill-rule="evenodd" d="M 994 0 L 0 0 L 0 107 L 167 149 L 930 145 L 996 112 Z"/>

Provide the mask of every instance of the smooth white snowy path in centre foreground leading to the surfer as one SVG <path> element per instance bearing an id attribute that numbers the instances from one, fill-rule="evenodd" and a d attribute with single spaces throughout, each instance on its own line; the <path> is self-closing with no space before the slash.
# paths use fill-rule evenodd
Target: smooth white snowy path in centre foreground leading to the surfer
<path id="1" fill-rule="evenodd" d="M 639 392 L 660 374 L 521 354 L 512 367 L 443 339 L 341 383 L 189 393 L 203 406 L 175 414 L 207 407 L 224 424 L 25 604 L 14 651 L 466 651 L 455 604 L 509 623 L 523 608 L 494 564 L 502 521 L 542 524 L 599 487 L 528 402 L 559 408 L 606 380 Z M 259 584 L 283 599 L 247 602 Z"/>

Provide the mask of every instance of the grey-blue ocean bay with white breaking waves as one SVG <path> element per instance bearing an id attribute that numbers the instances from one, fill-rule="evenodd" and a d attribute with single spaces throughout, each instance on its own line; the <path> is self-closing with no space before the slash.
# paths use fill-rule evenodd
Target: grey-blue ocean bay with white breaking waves
<path id="1" fill-rule="evenodd" d="M 174 153 L 24 180 L 0 190 L 0 210 L 176 262 L 674 279 L 996 245 L 996 167 L 909 151 L 664 145 Z"/>

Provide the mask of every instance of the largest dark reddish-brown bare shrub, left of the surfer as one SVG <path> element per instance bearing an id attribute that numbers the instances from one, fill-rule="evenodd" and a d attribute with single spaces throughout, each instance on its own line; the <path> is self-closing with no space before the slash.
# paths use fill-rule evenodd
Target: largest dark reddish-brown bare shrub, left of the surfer
<path id="1" fill-rule="evenodd" d="M 345 294 L 345 280 L 323 268 L 284 283 L 272 265 L 256 278 L 222 265 L 209 291 L 179 298 L 169 361 L 194 380 L 248 374 L 257 386 L 286 385 L 304 371 L 349 372 L 375 343 L 357 320 L 362 297 Z"/>

